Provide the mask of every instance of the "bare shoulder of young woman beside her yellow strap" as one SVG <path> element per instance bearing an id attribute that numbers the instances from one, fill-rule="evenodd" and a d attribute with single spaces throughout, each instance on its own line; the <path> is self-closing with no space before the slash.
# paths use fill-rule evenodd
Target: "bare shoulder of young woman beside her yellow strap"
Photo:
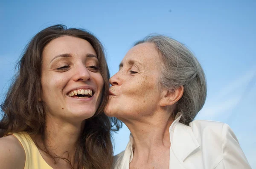
<path id="1" fill-rule="evenodd" d="M 14 135 L 0 138 L 0 166 L 4 169 L 24 169 L 25 151 Z"/>

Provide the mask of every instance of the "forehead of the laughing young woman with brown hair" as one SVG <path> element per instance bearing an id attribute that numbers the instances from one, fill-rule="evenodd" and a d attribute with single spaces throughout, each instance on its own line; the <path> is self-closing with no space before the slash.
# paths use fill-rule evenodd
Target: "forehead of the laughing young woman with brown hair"
<path id="1" fill-rule="evenodd" d="M 96 52 L 93 46 L 84 39 L 63 36 L 53 39 L 44 47 L 43 59 L 50 59 L 59 54 L 73 54 L 75 56 L 86 54 L 96 55 Z"/>

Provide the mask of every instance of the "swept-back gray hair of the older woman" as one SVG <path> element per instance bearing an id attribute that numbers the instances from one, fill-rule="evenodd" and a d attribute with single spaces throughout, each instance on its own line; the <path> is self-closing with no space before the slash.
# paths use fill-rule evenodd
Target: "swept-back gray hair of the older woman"
<path id="1" fill-rule="evenodd" d="M 173 113 L 180 112 L 180 122 L 188 125 L 206 100 L 207 84 L 204 70 L 192 52 L 175 39 L 163 35 L 150 35 L 135 45 L 144 42 L 154 43 L 160 52 L 163 65 L 160 86 L 167 90 L 184 87 L 183 96 L 177 101 L 176 111 Z"/>

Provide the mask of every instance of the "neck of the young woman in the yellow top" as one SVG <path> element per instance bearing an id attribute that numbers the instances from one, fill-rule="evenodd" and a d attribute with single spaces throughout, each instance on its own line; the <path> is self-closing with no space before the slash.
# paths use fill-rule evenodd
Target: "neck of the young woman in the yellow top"
<path id="1" fill-rule="evenodd" d="M 80 137 L 84 122 L 71 124 L 59 118 L 46 116 L 45 143 L 50 152 L 71 162 L 75 155 L 76 144 Z M 42 141 L 39 141 L 41 147 Z"/>

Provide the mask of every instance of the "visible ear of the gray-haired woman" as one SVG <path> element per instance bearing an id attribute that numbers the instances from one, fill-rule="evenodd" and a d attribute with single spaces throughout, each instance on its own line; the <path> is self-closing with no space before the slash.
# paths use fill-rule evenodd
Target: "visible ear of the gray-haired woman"
<path id="1" fill-rule="evenodd" d="M 180 86 L 173 90 L 164 90 L 162 92 L 162 98 L 160 100 L 160 106 L 171 106 L 175 104 L 182 97 L 184 87 Z"/>

